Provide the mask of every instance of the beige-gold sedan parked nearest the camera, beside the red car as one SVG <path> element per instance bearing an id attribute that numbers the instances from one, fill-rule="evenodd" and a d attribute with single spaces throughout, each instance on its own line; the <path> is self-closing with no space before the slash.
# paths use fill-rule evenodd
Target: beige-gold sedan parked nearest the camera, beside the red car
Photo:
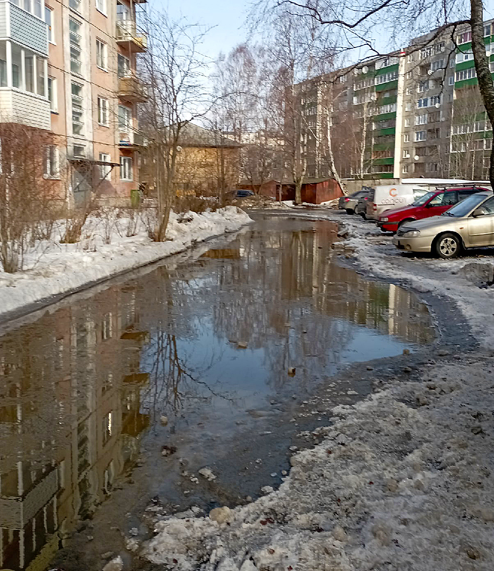
<path id="1" fill-rule="evenodd" d="M 464 248 L 494 246 L 492 191 L 472 194 L 440 216 L 403 224 L 393 244 L 407 252 L 433 252 L 447 259 L 456 258 Z"/>

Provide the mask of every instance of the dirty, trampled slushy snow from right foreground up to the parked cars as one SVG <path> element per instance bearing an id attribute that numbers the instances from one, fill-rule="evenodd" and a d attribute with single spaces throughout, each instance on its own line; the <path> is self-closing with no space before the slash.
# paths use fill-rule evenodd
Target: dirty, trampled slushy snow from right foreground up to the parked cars
<path id="1" fill-rule="evenodd" d="M 481 348 L 443 351 L 334 408 L 322 443 L 291 457 L 278 490 L 224 524 L 158 518 L 143 558 L 181 571 L 492 571 L 494 292 L 464 274 L 484 262 L 403 258 L 370 224 L 345 222 L 349 263 L 455 300 Z"/>

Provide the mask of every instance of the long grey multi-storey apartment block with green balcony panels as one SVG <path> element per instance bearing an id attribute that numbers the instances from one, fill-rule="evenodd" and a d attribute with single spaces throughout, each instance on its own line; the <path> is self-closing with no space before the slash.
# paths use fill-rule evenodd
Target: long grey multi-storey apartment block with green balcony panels
<path id="1" fill-rule="evenodd" d="M 492 128 L 471 32 L 459 28 L 455 39 L 431 31 L 390 57 L 299 83 L 306 176 L 331 173 L 329 127 L 342 178 L 488 178 Z M 493 21 L 484 41 L 494 71 Z"/>

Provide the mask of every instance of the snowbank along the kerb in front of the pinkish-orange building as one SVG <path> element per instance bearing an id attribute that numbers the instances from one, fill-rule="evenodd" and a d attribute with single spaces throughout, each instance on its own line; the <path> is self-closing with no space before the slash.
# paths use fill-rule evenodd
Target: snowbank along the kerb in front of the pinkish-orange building
<path id="1" fill-rule="evenodd" d="M 128 219 L 89 218 L 80 242 L 61 244 L 55 237 L 37 244 L 26 256 L 25 270 L 16 274 L 0 271 L 0 315 L 177 254 L 250 222 L 246 212 L 234 206 L 202 214 L 172 212 L 168 240 L 159 243 L 148 238 L 143 220 L 139 220 L 136 234 L 127 238 Z M 106 244 L 104 236 L 109 226 L 111 243 Z"/>

